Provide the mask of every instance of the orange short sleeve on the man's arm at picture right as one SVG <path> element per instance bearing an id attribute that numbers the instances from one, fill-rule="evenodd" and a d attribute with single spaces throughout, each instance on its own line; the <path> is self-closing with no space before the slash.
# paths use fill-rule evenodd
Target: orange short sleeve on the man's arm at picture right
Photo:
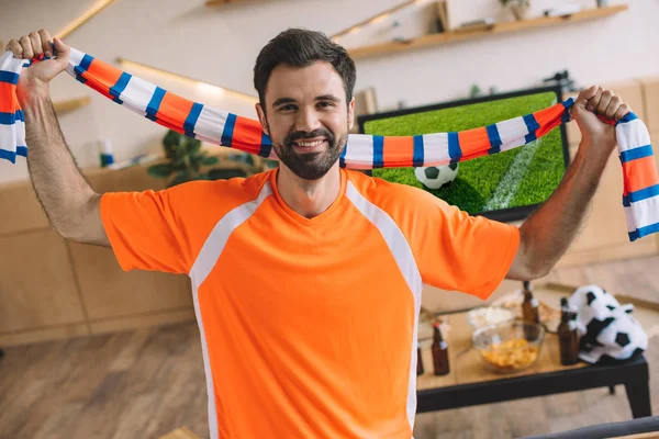
<path id="1" fill-rule="evenodd" d="M 411 240 L 423 282 L 489 297 L 513 263 L 520 229 L 470 216 L 424 191 L 415 192 Z"/>

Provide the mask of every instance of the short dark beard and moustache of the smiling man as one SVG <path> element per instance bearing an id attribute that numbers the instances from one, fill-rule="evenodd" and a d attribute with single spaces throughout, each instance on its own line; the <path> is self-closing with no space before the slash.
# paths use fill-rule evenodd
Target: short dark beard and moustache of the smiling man
<path id="1" fill-rule="evenodd" d="M 298 154 L 293 148 L 293 143 L 297 140 L 314 137 L 325 137 L 327 140 L 327 149 L 319 153 Z M 277 153 L 277 157 L 283 165 L 287 166 L 295 176 L 303 180 L 320 180 L 330 169 L 336 164 L 340 153 L 346 146 L 348 139 L 348 131 L 336 138 L 334 133 L 322 127 L 314 130 L 311 133 L 292 132 L 289 133 L 283 142 L 275 142 L 272 147 Z"/>

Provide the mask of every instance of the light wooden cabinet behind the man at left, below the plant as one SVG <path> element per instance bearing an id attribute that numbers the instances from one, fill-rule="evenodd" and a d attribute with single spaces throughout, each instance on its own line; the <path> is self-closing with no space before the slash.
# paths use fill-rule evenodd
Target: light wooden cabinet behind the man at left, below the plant
<path id="1" fill-rule="evenodd" d="M 161 189 L 143 167 L 86 171 L 99 192 Z M 0 347 L 192 320 L 186 275 L 124 272 L 112 249 L 51 229 L 29 181 L 0 188 Z"/>

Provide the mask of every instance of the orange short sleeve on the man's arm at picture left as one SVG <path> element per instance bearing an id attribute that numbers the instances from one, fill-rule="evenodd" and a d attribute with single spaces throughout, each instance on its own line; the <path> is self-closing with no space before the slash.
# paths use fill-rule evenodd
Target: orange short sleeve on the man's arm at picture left
<path id="1" fill-rule="evenodd" d="M 123 270 L 189 272 L 190 243 L 176 214 L 185 206 L 174 189 L 102 195 L 101 219 Z"/>

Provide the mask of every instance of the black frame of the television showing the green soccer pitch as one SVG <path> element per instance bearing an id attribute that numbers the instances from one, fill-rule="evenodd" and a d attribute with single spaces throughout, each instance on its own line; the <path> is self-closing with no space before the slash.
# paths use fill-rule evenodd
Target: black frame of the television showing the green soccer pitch
<path id="1" fill-rule="evenodd" d="M 414 106 L 414 108 L 410 108 L 410 109 L 394 110 L 394 111 L 388 111 L 388 112 L 382 112 L 382 113 L 364 114 L 364 115 L 357 116 L 357 125 L 359 127 L 359 133 L 365 134 L 364 125 L 370 121 L 378 121 L 381 119 L 389 119 L 389 117 L 395 117 L 395 116 L 403 116 L 403 115 L 407 115 L 407 114 L 423 113 L 423 112 L 433 111 L 433 110 L 450 109 L 450 108 L 455 108 L 455 106 L 469 105 L 472 103 L 499 101 L 502 99 L 517 98 L 517 97 L 522 97 L 522 95 L 537 94 L 537 93 L 545 93 L 545 92 L 556 93 L 557 102 L 563 101 L 562 89 L 560 86 L 537 87 L 537 88 L 515 90 L 515 91 L 500 93 L 500 94 L 490 94 L 490 95 L 481 97 L 481 98 L 461 99 L 461 100 L 456 100 L 456 101 L 447 101 L 447 102 L 442 102 L 442 103 L 435 103 L 435 104 L 423 105 L 423 106 Z M 522 116 L 523 114 L 520 114 L 520 115 Z M 561 123 L 559 125 L 559 128 L 560 128 L 560 137 L 561 137 L 561 142 L 562 142 L 562 147 L 563 147 L 563 162 L 565 162 L 563 175 L 565 175 L 566 169 L 570 165 L 570 150 L 569 150 L 569 145 L 568 145 L 568 134 L 566 131 L 565 123 Z M 366 173 L 372 176 L 372 171 L 367 171 Z M 480 215 L 480 216 L 484 216 L 490 219 L 507 223 L 507 222 L 513 222 L 513 221 L 525 219 L 526 217 L 528 217 L 528 215 L 530 215 L 532 212 L 534 212 L 540 205 L 541 205 L 541 203 L 529 204 L 526 206 L 501 209 L 498 211 L 478 212 L 478 213 L 473 213 L 471 215 L 473 215 L 473 216 Z"/>

